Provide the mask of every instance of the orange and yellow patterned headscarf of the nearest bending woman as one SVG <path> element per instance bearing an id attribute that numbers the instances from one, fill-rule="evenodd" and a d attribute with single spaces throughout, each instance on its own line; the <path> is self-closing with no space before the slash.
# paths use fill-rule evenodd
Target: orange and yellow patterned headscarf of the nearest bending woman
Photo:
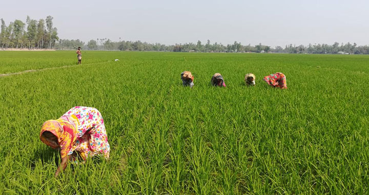
<path id="1" fill-rule="evenodd" d="M 48 120 L 44 123 L 39 134 L 40 140 L 53 149 L 60 146 L 61 158 L 66 157 L 76 140 L 78 120 L 74 116 L 62 116 L 56 120 Z M 57 137 L 58 144 L 46 138 L 43 133 L 50 132 Z"/>

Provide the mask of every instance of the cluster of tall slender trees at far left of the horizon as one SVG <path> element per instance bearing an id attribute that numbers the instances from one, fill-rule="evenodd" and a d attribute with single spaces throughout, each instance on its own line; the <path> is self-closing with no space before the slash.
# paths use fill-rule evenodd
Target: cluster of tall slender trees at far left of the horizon
<path id="1" fill-rule="evenodd" d="M 39 20 L 27 16 L 26 22 L 16 19 L 6 25 L 5 20 L 1 18 L 1 48 L 54 48 L 59 37 L 52 20 L 52 16 Z"/>

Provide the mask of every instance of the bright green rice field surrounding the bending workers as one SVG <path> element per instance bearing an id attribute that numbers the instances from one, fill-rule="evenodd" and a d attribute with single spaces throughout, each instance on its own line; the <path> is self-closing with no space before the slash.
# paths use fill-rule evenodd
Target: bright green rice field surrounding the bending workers
<path id="1" fill-rule="evenodd" d="M 0 52 L 0 74 L 68 66 L 0 77 L 0 194 L 369 191 L 369 56 L 74 52 Z M 262 81 L 274 72 L 288 89 Z M 73 106 L 103 114 L 111 158 L 55 179 L 39 131 Z"/>

